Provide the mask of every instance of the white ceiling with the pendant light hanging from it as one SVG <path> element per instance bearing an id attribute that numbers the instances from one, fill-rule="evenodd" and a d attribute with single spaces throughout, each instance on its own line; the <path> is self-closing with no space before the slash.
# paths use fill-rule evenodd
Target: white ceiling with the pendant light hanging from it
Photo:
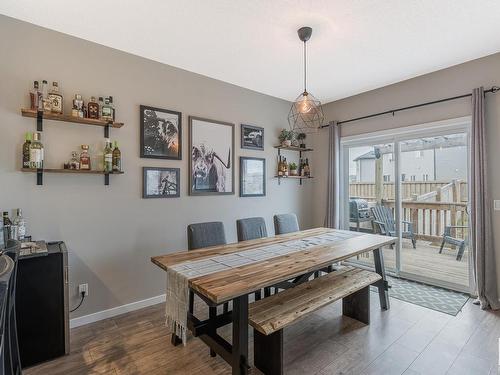
<path id="1" fill-rule="evenodd" d="M 498 0 L 2 0 L 0 13 L 286 100 L 311 26 L 323 103 L 500 51 Z"/>

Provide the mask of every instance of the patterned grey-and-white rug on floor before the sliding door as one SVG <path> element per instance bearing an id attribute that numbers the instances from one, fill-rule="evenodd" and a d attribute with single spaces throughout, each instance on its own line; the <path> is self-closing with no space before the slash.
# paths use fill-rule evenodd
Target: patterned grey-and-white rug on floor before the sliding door
<path id="1" fill-rule="evenodd" d="M 430 286 L 416 281 L 387 277 L 389 295 L 401 301 L 441 311 L 456 316 L 465 305 L 469 296 L 464 293 Z"/>

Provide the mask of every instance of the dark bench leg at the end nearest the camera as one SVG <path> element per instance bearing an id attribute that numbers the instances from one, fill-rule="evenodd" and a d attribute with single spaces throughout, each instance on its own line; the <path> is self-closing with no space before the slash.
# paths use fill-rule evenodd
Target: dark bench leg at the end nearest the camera
<path id="1" fill-rule="evenodd" d="M 283 375 L 283 330 L 263 335 L 254 329 L 253 362 L 266 375 Z"/>

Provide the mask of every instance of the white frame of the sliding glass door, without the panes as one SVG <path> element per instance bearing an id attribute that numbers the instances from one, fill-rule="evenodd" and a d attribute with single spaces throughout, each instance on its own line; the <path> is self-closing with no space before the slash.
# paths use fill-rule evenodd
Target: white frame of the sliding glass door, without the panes
<path id="1" fill-rule="evenodd" d="M 349 230 L 349 149 L 352 147 L 360 146 L 374 146 L 381 143 L 392 143 L 394 145 L 394 184 L 395 184 L 395 222 L 397 238 L 395 251 L 396 251 L 396 269 L 387 269 L 389 274 L 400 276 L 406 279 L 420 281 L 427 284 L 441 286 L 465 293 L 473 293 L 475 290 L 474 278 L 472 273 L 472 262 L 470 259 L 471 251 L 469 254 L 469 285 L 464 286 L 460 284 L 450 283 L 444 280 L 429 278 L 427 276 L 416 275 L 405 272 L 401 269 L 401 150 L 400 142 L 408 141 L 414 138 L 427 138 L 439 135 L 449 135 L 453 133 L 467 134 L 467 182 L 470 181 L 470 129 L 472 119 L 470 116 L 459 117 L 443 121 L 435 121 L 423 123 L 419 125 L 410 125 L 406 127 L 399 127 L 396 129 L 382 130 L 372 133 L 363 133 L 359 135 L 352 135 L 342 137 L 340 140 L 340 226 L 341 229 Z M 470 189 L 468 201 L 470 202 Z M 469 222 L 470 225 L 470 222 Z M 470 228 L 469 228 L 470 233 Z M 359 266 L 359 264 L 357 264 Z M 365 266 L 366 267 L 366 266 Z"/>

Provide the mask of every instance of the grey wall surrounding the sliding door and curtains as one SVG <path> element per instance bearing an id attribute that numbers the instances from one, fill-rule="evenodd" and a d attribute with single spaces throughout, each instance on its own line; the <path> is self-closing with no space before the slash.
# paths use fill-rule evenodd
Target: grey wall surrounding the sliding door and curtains
<path id="1" fill-rule="evenodd" d="M 332 82 L 332 85 L 335 84 Z M 350 98 L 327 104 L 324 107 L 327 120 L 346 120 L 353 117 L 377 113 L 392 108 L 423 103 L 469 93 L 473 88 L 500 84 L 500 53 L 478 60 L 440 70 L 414 79 L 396 83 L 377 90 L 369 91 Z M 373 119 L 353 122 L 342 127 L 342 136 L 393 129 L 408 125 L 468 116 L 471 114 L 470 99 L 455 100 L 427 106 L 393 116 L 380 116 Z M 488 140 L 488 171 L 491 198 L 500 199 L 500 93 L 486 96 L 486 119 Z M 322 130 L 315 137 L 314 167 L 325 170 L 328 150 L 328 130 Z M 326 197 L 326 174 L 315 173 L 313 225 L 324 220 Z M 493 202 L 490 202 L 493 204 Z M 500 213 L 493 211 L 493 229 L 497 256 L 497 272 L 500 275 Z M 500 283 L 499 283 L 500 284 Z M 500 287 L 500 285 L 499 285 Z"/>

